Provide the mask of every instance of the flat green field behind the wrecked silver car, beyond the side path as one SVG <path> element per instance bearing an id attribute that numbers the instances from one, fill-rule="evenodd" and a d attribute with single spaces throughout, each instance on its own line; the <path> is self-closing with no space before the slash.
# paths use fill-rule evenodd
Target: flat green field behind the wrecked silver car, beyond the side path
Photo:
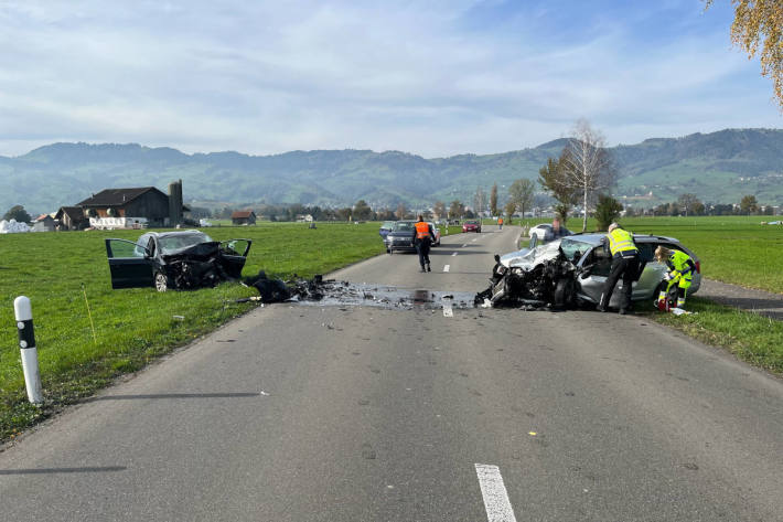
<path id="1" fill-rule="evenodd" d="M 701 274 L 710 279 L 747 288 L 783 294 L 783 226 L 761 225 L 780 216 L 628 217 L 620 224 L 636 234 L 676 237 L 701 260 Z M 514 220 L 515 224 L 519 220 Z M 551 223 L 551 219 L 524 221 L 528 226 Z M 580 232 L 581 220 L 567 223 Z M 597 231 L 588 220 L 588 232 Z"/>

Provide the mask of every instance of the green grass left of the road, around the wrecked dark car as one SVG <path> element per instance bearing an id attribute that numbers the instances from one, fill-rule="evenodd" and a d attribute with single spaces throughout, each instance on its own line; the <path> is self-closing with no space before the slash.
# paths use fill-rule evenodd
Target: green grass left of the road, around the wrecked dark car
<path id="1" fill-rule="evenodd" d="M 253 239 L 245 275 L 265 269 L 275 276 L 311 277 L 384 253 L 377 223 L 204 231 L 218 241 Z M 0 236 L 0 440 L 254 307 L 232 302 L 255 294 L 236 283 L 165 294 L 152 287 L 112 290 L 104 238 L 136 241 L 139 235 L 93 231 Z M 24 391 L 13 316 L 13 299 L 20 295 L 32 302 L 43 407 L 30 405 Z"/>

